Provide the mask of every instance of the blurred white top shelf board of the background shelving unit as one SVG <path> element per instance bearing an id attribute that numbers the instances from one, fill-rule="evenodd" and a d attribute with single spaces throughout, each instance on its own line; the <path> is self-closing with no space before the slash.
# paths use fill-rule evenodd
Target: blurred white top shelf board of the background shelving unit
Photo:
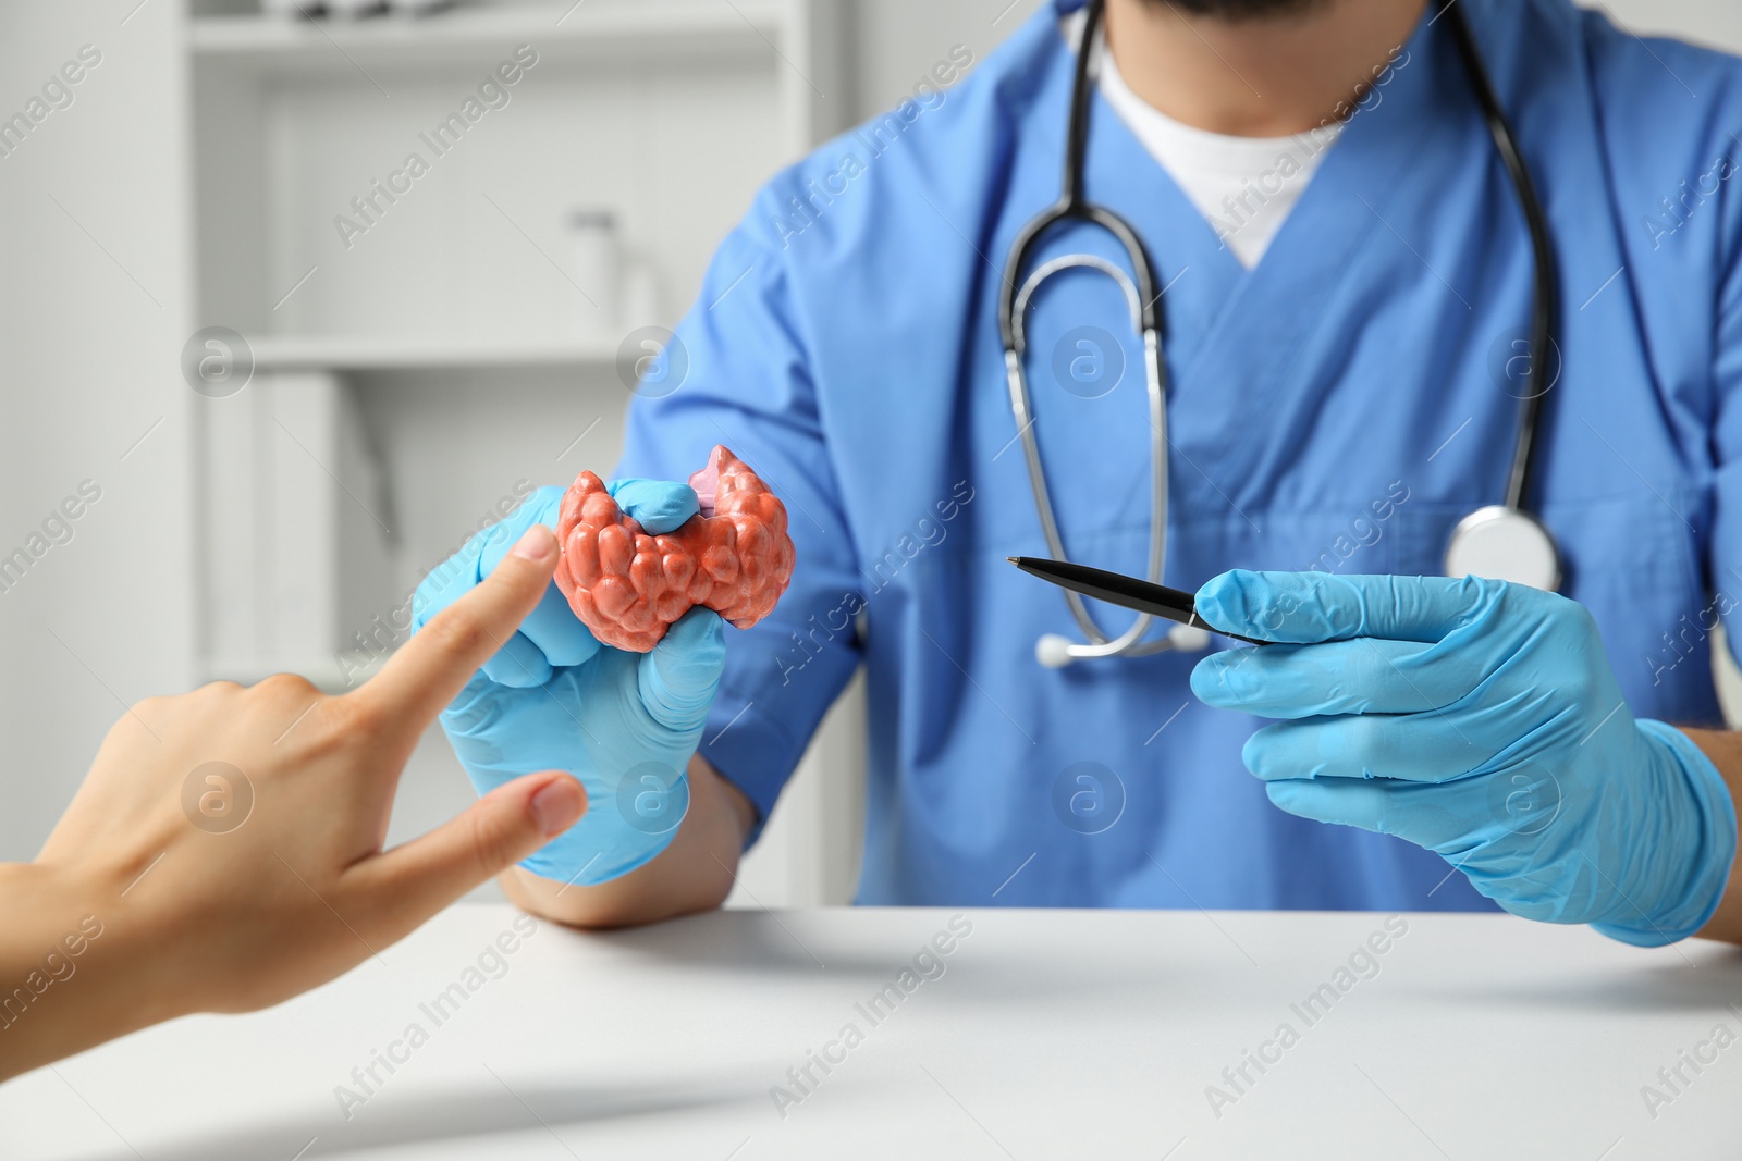
<path id="1" fill-rule="evenodd" d="M 195 61 L 284 71 L 354 70 L 369 63 L 479 63 L 479 52 L 585 49 L 631 56 L 770 54 L 791 31 L 784 0 L 530 0 L 448 9 L 425 17 L 286 19 L 200 16 L 190 21 Z M 493 61 L 484 61 L 491 64 Z"/>

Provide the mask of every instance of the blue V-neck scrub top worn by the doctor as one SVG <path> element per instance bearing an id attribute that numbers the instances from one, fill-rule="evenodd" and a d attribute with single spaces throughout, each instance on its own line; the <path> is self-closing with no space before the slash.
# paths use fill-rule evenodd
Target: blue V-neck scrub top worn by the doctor
<path id="1" fill-rule="evenodd" d="M 1566 287 L 1535 498 L 1564 590 L 1636 714 L 1716 722 L 1711 630 L 1742 597 L 1742 68 L 1566 0 L 1463 5 Z M 681 386 L 631 409 L 620 473 L 685 479 L 723 442 L 786 500 L 798 547 L 775 614 L 728 634 L 702 754 L 766 816 L 864 665 L 862 903 L 1489 909 L 1435 855 L 1275 809 L 1240 764 L 1261 722 L 1190 693 L 1202 654 L 1035 661 L 1036 637 L 1077 632 L 1005 562 L 1045 543 L 996 298 L 1059 193 L 1068 7 L 775 178 L 678 331 Z M 1502 500 L 1531 308 L 1528 235 L 1448 30 L 1416 30 L 1256 270 L 1099 97 L 1087 190 L 1169 287 L 1167 583 L 1437 573 L 1453 524 Z M 1085 249 L 1118 254 L 1080 228 L 1050 247 Z M 1070 555 L 1141 573 L 1150 428 L 1118 292 L 1057 279 L 1030 325 Z M 1096 339 L 1122 360 L 1073 367 Z"/>

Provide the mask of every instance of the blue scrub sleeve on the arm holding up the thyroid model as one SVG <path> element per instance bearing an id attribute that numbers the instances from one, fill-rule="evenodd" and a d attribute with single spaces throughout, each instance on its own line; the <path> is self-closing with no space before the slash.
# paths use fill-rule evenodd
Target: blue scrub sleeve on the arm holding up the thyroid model
<path id="1" fill-rule="evenodd" d="M 763 191 L 721 244 L 702 292 L 678 325 L 667 378 L 629 409 L 617 477 L 681 480 L 725 444 L 786 503 L 796 548 L 793 585 L 754 628 L 726 628 L 726 670 L 700 755 L 756 804 L 773 809 L 861 651 L 822 628 L 861 592 L 857 552 L 822 437 L 807 319 L 779 244 L 758 223 L 779 209 Z"/>

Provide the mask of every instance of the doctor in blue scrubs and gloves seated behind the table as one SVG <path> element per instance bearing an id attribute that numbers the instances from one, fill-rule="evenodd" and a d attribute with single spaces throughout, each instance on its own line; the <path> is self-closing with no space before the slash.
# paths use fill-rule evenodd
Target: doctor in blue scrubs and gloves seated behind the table
<path id="1" fill-rule="evenodd" d="M 775 176 L 719 245 L 611 487 L 674 527 L 697 500 L 662 480 L 726 444 L 787 505 L 793 587 L 650 654 L 547 595 L 444 715 L 479 789 L 554 768 L 589 790 L 510 895 L 582 926 L 718 905 L 864 667 L 862 903 L 1502 907 L 1742 942 L 1742 745 L 1711 668 L 1742 599 L 1742 63 L 1568 0 L 1092 16 L 1057 0 L 982 61 L 958 49 L 955 84 Z M 1545 216 L 1547 352 L 1462 30 Z M 1080 52 L 1080 191 L 1153 263 L 1164 416 L 1115 235 L 1066 219 L 1007 266 L 1061 197 Z M 1021 303 L 1023 418 L 1002 292 L 1071 256 L 1104 265 Z M 1052 555 L 1030 437 L 1070 559 L 1144 574 L 1160 512 L 1162 580 L 1277 644 L 1153 623 L 1059 665 L 1082 627 L 1005 560 Z M 557 494 L 432 574 L 418 616 Z M 1509 500 L 1549 573 L 1448 576 L 1460 520 Z M 1104 639 L 1132 616 L 1089 613 Z"/>

